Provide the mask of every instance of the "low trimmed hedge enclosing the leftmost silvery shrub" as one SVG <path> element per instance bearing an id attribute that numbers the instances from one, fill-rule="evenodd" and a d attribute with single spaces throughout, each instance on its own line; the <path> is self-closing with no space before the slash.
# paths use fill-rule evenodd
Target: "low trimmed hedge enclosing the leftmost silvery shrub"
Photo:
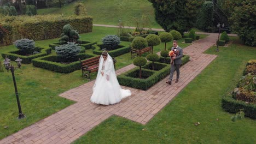
<path id="1" fill-rule="evenodd" d="M 49 53 L 51 53 L 51 48 L 35 47 L 34 50 L 31 50 L 29 52 L 33 53 L 33 51 L 40 51 L 40 53 L 30 55 L 30 56 L 24 56 L 24 55 L 19 55 L 24 53 L 24 51 L 16 50 L 16 51 L 3 52 L 2 57 L 5 58 L 5 55 L 7 55 L 7 57 L 11 59 L 11 61 L 15 61 L 15 59 L 19 57 L 22 59 L 21 61 L 22 63 L 29 64 L 31 63 L 31 60 L 34 58 L 49 55 Z"/>

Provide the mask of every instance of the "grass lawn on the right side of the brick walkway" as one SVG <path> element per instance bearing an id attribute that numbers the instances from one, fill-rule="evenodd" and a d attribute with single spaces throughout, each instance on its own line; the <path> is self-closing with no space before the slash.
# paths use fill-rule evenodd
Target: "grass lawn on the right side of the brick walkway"
<path id="1" fill-rule="evenodd" d="M 255 143 L 255 120 L 232 122 L 221 99 L 235 87 L 246 62 L 255 59 L 256 49 L 234 43 L 215 50 L 206 53 L 218 57 L 148 124 L 112 116 L 74 143 Z"/>

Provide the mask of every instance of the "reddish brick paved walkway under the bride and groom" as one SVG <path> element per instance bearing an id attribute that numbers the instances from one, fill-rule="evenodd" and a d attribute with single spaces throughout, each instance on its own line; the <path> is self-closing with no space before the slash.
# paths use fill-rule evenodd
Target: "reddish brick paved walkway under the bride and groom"
<path id="1" fill-rule="evenodd" d="M 0 143 L 71 143 L 112 115 L 146 124 L 217 57 L 202 53 L 216 43 L 216 38 L 218 35 L 211 34 L 184 49 L 191 61 L 181 68 L 178 83 L 167 85 L 166 78 L 147 91 L 123 87 L 131 90 L 131 97 L 119 104 L 102 106 L 90 102 L 94 85 L 94 81 L 90 81 L 60 94 L 61 97 L 75 100 L 77 103 L 5 137 Z M 116 72 L 121 74 L 134 67 L 131 64 Z"/>

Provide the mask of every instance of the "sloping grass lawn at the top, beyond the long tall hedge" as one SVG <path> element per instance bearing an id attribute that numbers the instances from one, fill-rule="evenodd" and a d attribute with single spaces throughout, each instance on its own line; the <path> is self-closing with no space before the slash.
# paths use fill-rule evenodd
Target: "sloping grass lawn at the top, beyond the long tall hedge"
<path id="1" fill-rule="evenodd" d="M 141 17 L 142 14 L 149 18 L 149 28 L 161 28 L 155 21 L 154 8 L 147 0 L 80 0 L 85 5 L 88 15 L 93 17 L 93 23 L 104 25 L 118 25 L 119 19 L 125 26 L 135 26 L 133 17 Z M 62 8 L 38 9 L 38 14 L 74 14 L 74 3 Z"/>

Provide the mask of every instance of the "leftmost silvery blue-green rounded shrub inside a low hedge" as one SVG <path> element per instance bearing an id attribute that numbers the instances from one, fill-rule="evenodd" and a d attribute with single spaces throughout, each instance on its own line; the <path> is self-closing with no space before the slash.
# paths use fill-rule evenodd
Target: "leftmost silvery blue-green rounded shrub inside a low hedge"
<path id="1" fill-rule="evenodd" d="M 20 50 L 33 50 L 34 40 L 31 39 L 19 39 L 14 42 L 15 46 Z"/>

